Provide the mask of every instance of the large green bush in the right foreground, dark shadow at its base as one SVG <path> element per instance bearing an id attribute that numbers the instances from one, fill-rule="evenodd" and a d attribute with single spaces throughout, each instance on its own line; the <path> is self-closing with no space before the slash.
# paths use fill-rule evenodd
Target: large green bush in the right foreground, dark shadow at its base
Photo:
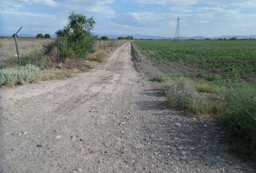
<path id="1" fill-rule="evenodd" d="M 255 86 L 236 84 L 224 96 L 226 105 L 221 114 L 223 128 L 236 139 L 239 151 L 256 156 Z"/>

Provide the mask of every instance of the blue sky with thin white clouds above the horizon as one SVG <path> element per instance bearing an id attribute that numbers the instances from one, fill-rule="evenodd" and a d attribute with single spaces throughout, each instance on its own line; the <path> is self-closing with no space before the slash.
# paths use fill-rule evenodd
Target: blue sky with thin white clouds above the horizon
<path id="1" fill-rule="evenodd" d="M 54 35 L 70 12 L 93 16 L 93 32 L 109 35 L 208 37 L 256 35 L 255 0 L 0 0 L 0 35 Z"/>

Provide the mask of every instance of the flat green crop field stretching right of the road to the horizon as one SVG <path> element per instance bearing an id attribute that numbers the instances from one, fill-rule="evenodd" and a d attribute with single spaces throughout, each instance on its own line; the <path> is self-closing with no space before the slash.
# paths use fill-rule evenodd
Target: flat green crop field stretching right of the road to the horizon
<path id="1" fill-rule="evenodd" d="M 136 40 L 157 63 L 184 62 L 217 74 L 255 76 L 255 40 Z"/>

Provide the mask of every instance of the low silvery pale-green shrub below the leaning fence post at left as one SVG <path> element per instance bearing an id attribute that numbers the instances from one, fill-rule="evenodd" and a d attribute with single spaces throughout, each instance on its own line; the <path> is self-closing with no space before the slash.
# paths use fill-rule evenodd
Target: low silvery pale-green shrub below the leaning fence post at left
<path id="1" fill-rule="evenodd" d="M 0 70 L 0 86 L 25 84 L 36 81 L 40 76 L 40 68 L 28 64 L 20 68 L 9 68 Z"/>

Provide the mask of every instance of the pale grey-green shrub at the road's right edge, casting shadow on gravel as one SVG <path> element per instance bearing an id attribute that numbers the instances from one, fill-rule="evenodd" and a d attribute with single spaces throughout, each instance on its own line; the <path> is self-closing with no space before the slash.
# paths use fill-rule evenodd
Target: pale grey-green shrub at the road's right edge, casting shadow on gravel
<path id="1" fill-rule="evenodd" d="M 188 81 L 174 81 L 172 84 L 164 84 L 163 89 L 170 105 L 182 110 L 191 110 L 193 105 L 203 100 L 203 97 Z"/>

